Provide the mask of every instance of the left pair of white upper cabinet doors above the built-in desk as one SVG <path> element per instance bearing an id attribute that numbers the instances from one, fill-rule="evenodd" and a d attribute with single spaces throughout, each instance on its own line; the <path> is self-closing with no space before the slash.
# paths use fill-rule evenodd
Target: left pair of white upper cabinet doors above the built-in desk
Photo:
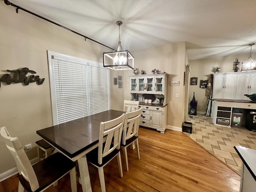
<path id="1" fill-rule="evenodd" d="M 235 99 L 237 74 L 214 74 L 213 98 Z"/>

